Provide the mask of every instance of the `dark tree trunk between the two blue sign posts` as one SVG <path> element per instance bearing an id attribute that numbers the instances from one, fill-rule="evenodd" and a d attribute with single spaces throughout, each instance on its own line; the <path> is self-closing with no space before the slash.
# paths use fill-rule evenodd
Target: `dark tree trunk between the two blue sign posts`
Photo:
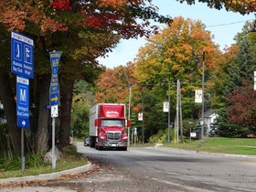
<path id="1" fill-rule="evenodd" d="M 49 110 L 46 105 L 49 103 L 49 84 L 50 75 L 44 75 L 42 79 L 38 80 L 38 121 L 37 121 L 37 155 L 43 155 L 48 149 L 48 124 L 49 124 Z"/>

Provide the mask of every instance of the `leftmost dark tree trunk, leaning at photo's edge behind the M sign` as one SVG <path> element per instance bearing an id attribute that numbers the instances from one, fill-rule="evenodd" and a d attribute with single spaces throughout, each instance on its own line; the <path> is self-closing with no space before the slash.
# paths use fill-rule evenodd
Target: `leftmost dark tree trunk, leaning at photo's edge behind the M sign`
<path id="1" fill-rule="evenodd" d="M 16 153 L 20 152 L 21 130 L 16 125 L 16 101 L 7 73 L 0 73 L 0 100 L 4 105 L 8 132 Z"/>

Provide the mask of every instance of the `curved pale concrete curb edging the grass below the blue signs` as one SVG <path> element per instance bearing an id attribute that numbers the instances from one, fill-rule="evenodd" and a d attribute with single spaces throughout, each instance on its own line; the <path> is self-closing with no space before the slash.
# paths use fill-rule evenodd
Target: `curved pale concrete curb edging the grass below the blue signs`
<path id="1" fill-rule="evenodd" d="M 2 178 L 0 179 L 0 184 L 9 184 L 9 183 L 18 183 L 18 182 L 26 182 L 26 181 L 43 181 L 43 180 L 52 180 L 58 178 L 62 175 L 69 175 L 69 174 L 80 174 L 90 171 L 93 168 L 91 162 L 87 165 L 79 166 L 76 168 L 54 172 L 50 174 L 41 174 L 38 176 L 20 176 L 20 177 L 11 177 L 11 178 Z"/>

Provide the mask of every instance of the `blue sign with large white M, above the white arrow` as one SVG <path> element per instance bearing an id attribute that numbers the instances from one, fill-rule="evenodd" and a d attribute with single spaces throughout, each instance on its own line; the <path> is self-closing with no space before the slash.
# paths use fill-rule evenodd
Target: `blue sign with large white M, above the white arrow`
<path id="1" fill-rule="evenodd" d="M 16 76 L 16 115 L 29 118 L 29 80 L 21 76 Z"/>

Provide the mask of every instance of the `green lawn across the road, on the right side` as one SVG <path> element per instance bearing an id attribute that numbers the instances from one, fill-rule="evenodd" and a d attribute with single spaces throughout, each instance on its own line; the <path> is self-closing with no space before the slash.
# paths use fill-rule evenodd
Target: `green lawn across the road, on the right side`
<path id="1" fill-rule="evenodd" d="M 165 144 L 164 146 L 178 149 L 235 155 L 256 155 L 256 139 L 252 138 L 206 138 L 205 144 L 200 140 L 185 140 L 184 144 Z"/>

